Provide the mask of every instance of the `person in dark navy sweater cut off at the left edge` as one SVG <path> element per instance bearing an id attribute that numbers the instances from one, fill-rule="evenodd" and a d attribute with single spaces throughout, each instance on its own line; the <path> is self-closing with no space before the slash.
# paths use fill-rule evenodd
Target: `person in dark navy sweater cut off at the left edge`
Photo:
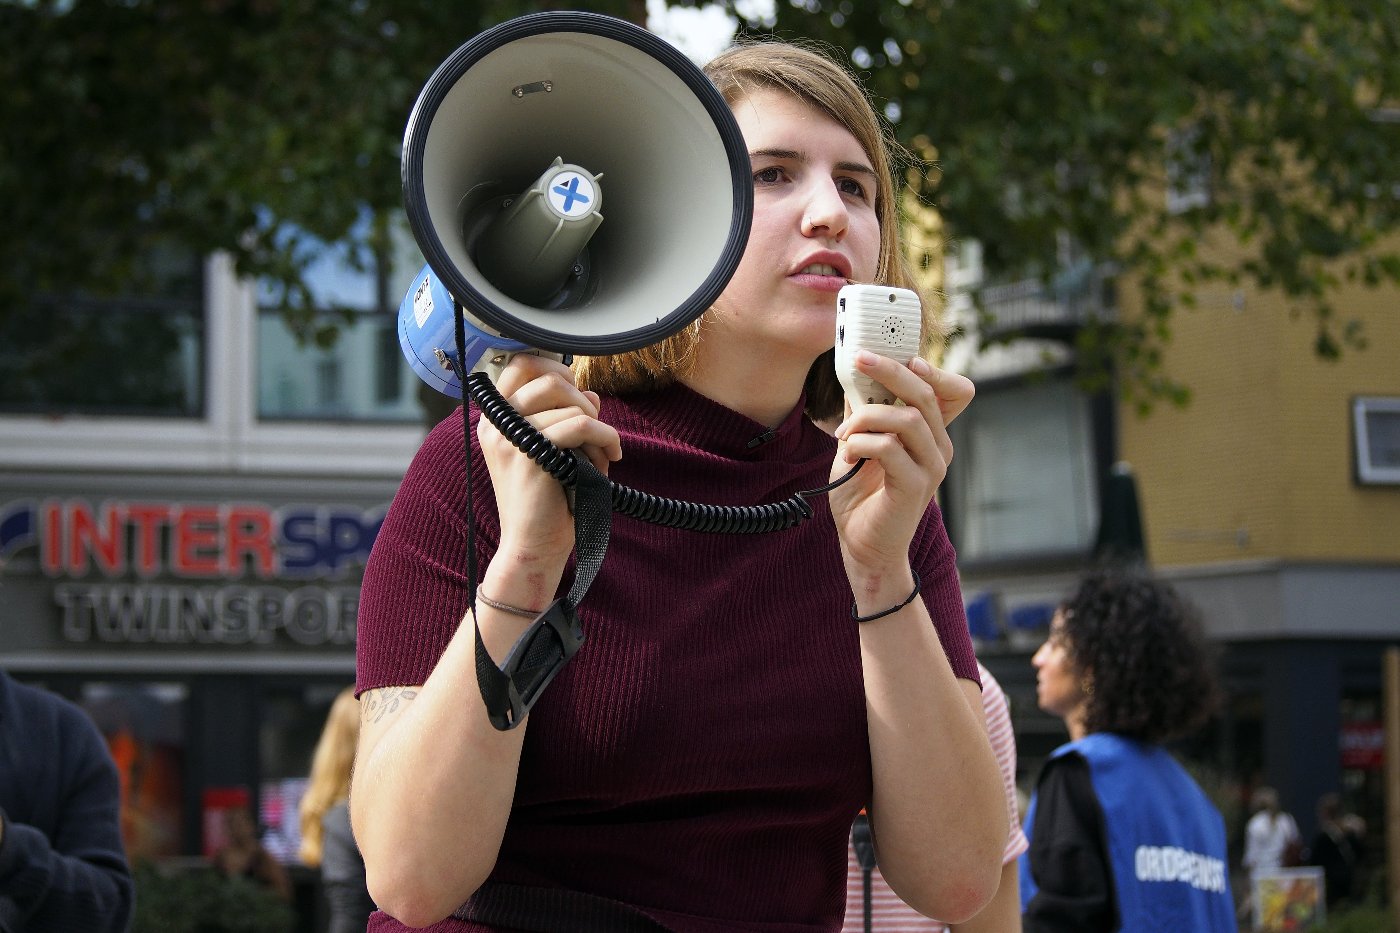
<path id="1" fill-rule="evenodd" d="M 88 714 L 0 671 L 0 930 L 126 930 L 120 800 Z"/>

